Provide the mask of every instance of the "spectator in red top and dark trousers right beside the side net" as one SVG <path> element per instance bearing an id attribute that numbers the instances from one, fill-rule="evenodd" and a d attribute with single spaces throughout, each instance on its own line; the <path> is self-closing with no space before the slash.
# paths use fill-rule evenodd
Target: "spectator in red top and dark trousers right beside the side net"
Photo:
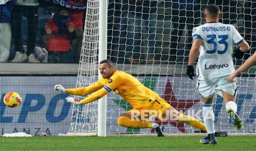
<path id="1" fill-rule="evenodd" d="M 78 7 L 87 4 L 87 0 L 68 0 L 67 2 Z M 79 63 L 84 35 L 84 9 L 69 9 L 69 15 L 70 21 L 75 25 L 75 32 L 77 33 L 77 38 L 73 39 L 71 44 L 75 53 L 75 63 Z"/>

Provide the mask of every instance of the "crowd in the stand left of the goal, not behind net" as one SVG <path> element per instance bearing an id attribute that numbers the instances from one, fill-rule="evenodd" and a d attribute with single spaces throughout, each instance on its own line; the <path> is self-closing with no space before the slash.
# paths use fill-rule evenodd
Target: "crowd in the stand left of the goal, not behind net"
<path id="1" fill-rule="evenodd" d="M 78 63 L 86 3 L 1 0 L 0 62 Z"/>

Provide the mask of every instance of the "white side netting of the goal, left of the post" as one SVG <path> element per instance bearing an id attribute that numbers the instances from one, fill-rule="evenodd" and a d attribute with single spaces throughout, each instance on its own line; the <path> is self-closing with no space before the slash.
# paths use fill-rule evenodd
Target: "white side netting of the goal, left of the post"
<path id="1" fill-rule="evenodd" d="M 99 44 L 99 1 L 88 1 L 83 44 L 77 77 L 77 88 L 85 87 L 97 81 L 97 54 Z M 79 100 L 82 97 L 77 96 Z M 69 135 L 96 135 L 97 102 L 83 106 L 72 106 L 72 123 Z"/>

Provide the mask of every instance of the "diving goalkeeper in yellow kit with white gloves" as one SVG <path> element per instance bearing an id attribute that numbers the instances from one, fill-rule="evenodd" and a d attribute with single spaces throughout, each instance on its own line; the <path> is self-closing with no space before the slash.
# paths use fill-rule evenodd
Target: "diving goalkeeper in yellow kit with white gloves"
<path id="1" fill-rule="evenodd" d="M 108 94 L 108 92 L 113 91 L 133 107 L 132 110 L 118 117 L 117 123 L 133 129 L 153 128 L 159 137 L 164 136 L 164 125 L 146 121 L 152 116 L 162 120 L 176 120 L 181 123 L 187 123 L 190 126 L 206 131 L 204 123 L 179 113 L 156 92 L 141 84 L 138 79 L 128 73 L 117 71 L 112 61 L 102 60 L 99 70 L 102 78 L 86 88 L 64 89 L 62 85 L 55 85 L 54 90 L 79 96 L 86 96 L 94 92 L 80 101 L 73 97 L 66 98 L 67 102 L 77 105 L 96 101 Z"/>

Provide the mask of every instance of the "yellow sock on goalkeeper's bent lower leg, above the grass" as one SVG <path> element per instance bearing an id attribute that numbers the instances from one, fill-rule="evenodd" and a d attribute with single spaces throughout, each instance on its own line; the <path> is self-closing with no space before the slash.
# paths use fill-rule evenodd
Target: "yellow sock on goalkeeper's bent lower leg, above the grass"
<path id="1" fill-rule="evenodd" d="M 130 127 L 133 129 L 140 129 L 140 128 L 151 128 L 152 123 L 149 123 L 147 121 L 141 121 L 141 120 L 131 120 L 130 118 L 127 117 L 119 117 L 117 119 L 117 123 L 120 126 L 123 127 Z"/>

